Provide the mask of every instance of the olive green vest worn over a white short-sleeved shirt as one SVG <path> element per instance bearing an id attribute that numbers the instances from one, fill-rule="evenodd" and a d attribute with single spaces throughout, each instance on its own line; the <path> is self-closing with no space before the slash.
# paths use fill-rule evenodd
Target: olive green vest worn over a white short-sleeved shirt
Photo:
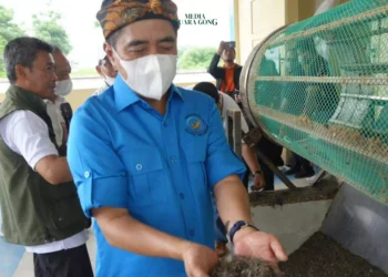
<path id="1" fill-rule="evenodd" d="M 44 102 L 31 92 L 10 86 L 0 105 L 0 120 L 18 111 L 31 111 L 49 126 L 57 146 Z M 73 183 L 49 184 L 25 160 L 10 150 L 0 136 L 0 204 L 4 240 L 35 246 L 61 240 L 88 226 Z"/>

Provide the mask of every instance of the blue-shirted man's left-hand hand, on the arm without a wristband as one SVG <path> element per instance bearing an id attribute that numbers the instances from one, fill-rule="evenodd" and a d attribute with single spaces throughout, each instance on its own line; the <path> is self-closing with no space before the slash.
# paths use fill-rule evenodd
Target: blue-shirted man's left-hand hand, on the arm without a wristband
<path id="1" fill-rule="evenodd" d="M 183 253 L 183 261 L 188 277 L 208 277 L 218 257 L 211 248 L 191 243 Z"/>

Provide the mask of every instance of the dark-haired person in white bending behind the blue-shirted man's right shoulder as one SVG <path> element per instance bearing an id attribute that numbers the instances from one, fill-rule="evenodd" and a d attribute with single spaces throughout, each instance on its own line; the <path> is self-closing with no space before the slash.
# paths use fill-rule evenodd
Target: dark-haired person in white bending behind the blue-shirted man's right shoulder
<path id="1" fill-rule="evenodd" d="M 193 90 L 205 93 L 215 101 L 215 103 L 217 104 L 217 106 L 219 109 L 219 113 L 221 113 L 221 116 L 222 116 L 222 120 L 224 123 L 224 130 L 225 130 L 226 124 L 227 124 L 227 111 L 228 110 L 241 111 L 237 103 L 231 96 L 226 95 L 225 93 L 218 93 L 217 88 L 215 88 L 215 85 L 213 83 L 202 82 L 202 83 L 196 84 L 193 88 Z M 248 124 L 246 123 L 243 114 L 241 117 L 241 126 L 242 126 L 243 132 L 245 132 L 245 133 L 249 132 Z M 254 176 L 254 181 L 253 181 L 254 186 L 256 186 L 257 189 L 265 187 L 264 178 L 262 175 L 261 166 L 257 163 L 257 157 L 256 157 L 255 151 L 253 148 L 251 148 L 246 143 L 243 142 L 242 154 L 243 154 L 243 158 L 244 158 L 245 163 L 248 165 L 248 168 L 251 170 L 251 172 Z M 245 176 L 244 176 L 244 179 L 243 179 L 243 183 L 244 183 L 246 189 L 248 189 L 247 186 L 248 186 L 248 179 L 249 179 L 251 172 L 247 171 Z M 218 257 L 222 257 L 227 253 L 226 244 L 228 240 L 226 237 L 225 226 L 224 226 L 215 206 L 214 206 L 214 212 L 215 212 L 215 252 L 218 255 Z"/>

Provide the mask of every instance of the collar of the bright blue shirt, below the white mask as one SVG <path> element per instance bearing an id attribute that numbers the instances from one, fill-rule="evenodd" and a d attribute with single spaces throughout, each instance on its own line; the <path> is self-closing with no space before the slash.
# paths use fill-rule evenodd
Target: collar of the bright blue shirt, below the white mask
<path id="1" fill-rule="evenodd" d="M 118 74 L 118 78 L 113 84 L 113 91 L 114 102 L 118 111 L 122 111 L 136 102 L 144 101 L 134 91 L 130 89 L 130 86 L 125 83 L 121 74 Z M 169 101 L 175 95 L 177 95 L 181 100 L 184 100 L 182 92 L 174 84 L 172 84 Z"/>

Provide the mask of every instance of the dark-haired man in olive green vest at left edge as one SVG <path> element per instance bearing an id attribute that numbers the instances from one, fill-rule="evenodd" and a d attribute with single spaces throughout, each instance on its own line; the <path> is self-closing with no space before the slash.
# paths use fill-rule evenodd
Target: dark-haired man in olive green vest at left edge
<path id="1" fill-rule="evenodd" d="M 57 83 L 52 47 L 18 38 L 4 49 L 10 88 L 0 106 L 4 240 L 33 253 L 37 277 L 93 276 L 83 215 L 43 100 Z"/>

